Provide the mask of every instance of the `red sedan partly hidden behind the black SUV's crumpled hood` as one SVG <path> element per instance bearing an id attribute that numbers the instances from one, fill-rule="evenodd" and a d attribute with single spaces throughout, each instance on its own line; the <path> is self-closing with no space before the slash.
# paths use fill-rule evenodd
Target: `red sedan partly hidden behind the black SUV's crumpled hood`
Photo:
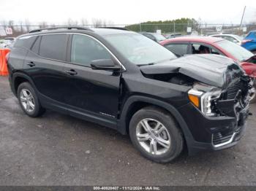
<path id="1" fill-rule="evenodd" d="M 256 55 L 238 44 L 225 39 L 202 36 L 183 36 L 167 39 L 160 42 L 162 46 L 181 57 L 190 54 L 217 54 L 225 55 L 241 64 L 246 74 L 256 79 Z M 256 80 L 253 88 L 251 102 L 256 101 Z"/>

